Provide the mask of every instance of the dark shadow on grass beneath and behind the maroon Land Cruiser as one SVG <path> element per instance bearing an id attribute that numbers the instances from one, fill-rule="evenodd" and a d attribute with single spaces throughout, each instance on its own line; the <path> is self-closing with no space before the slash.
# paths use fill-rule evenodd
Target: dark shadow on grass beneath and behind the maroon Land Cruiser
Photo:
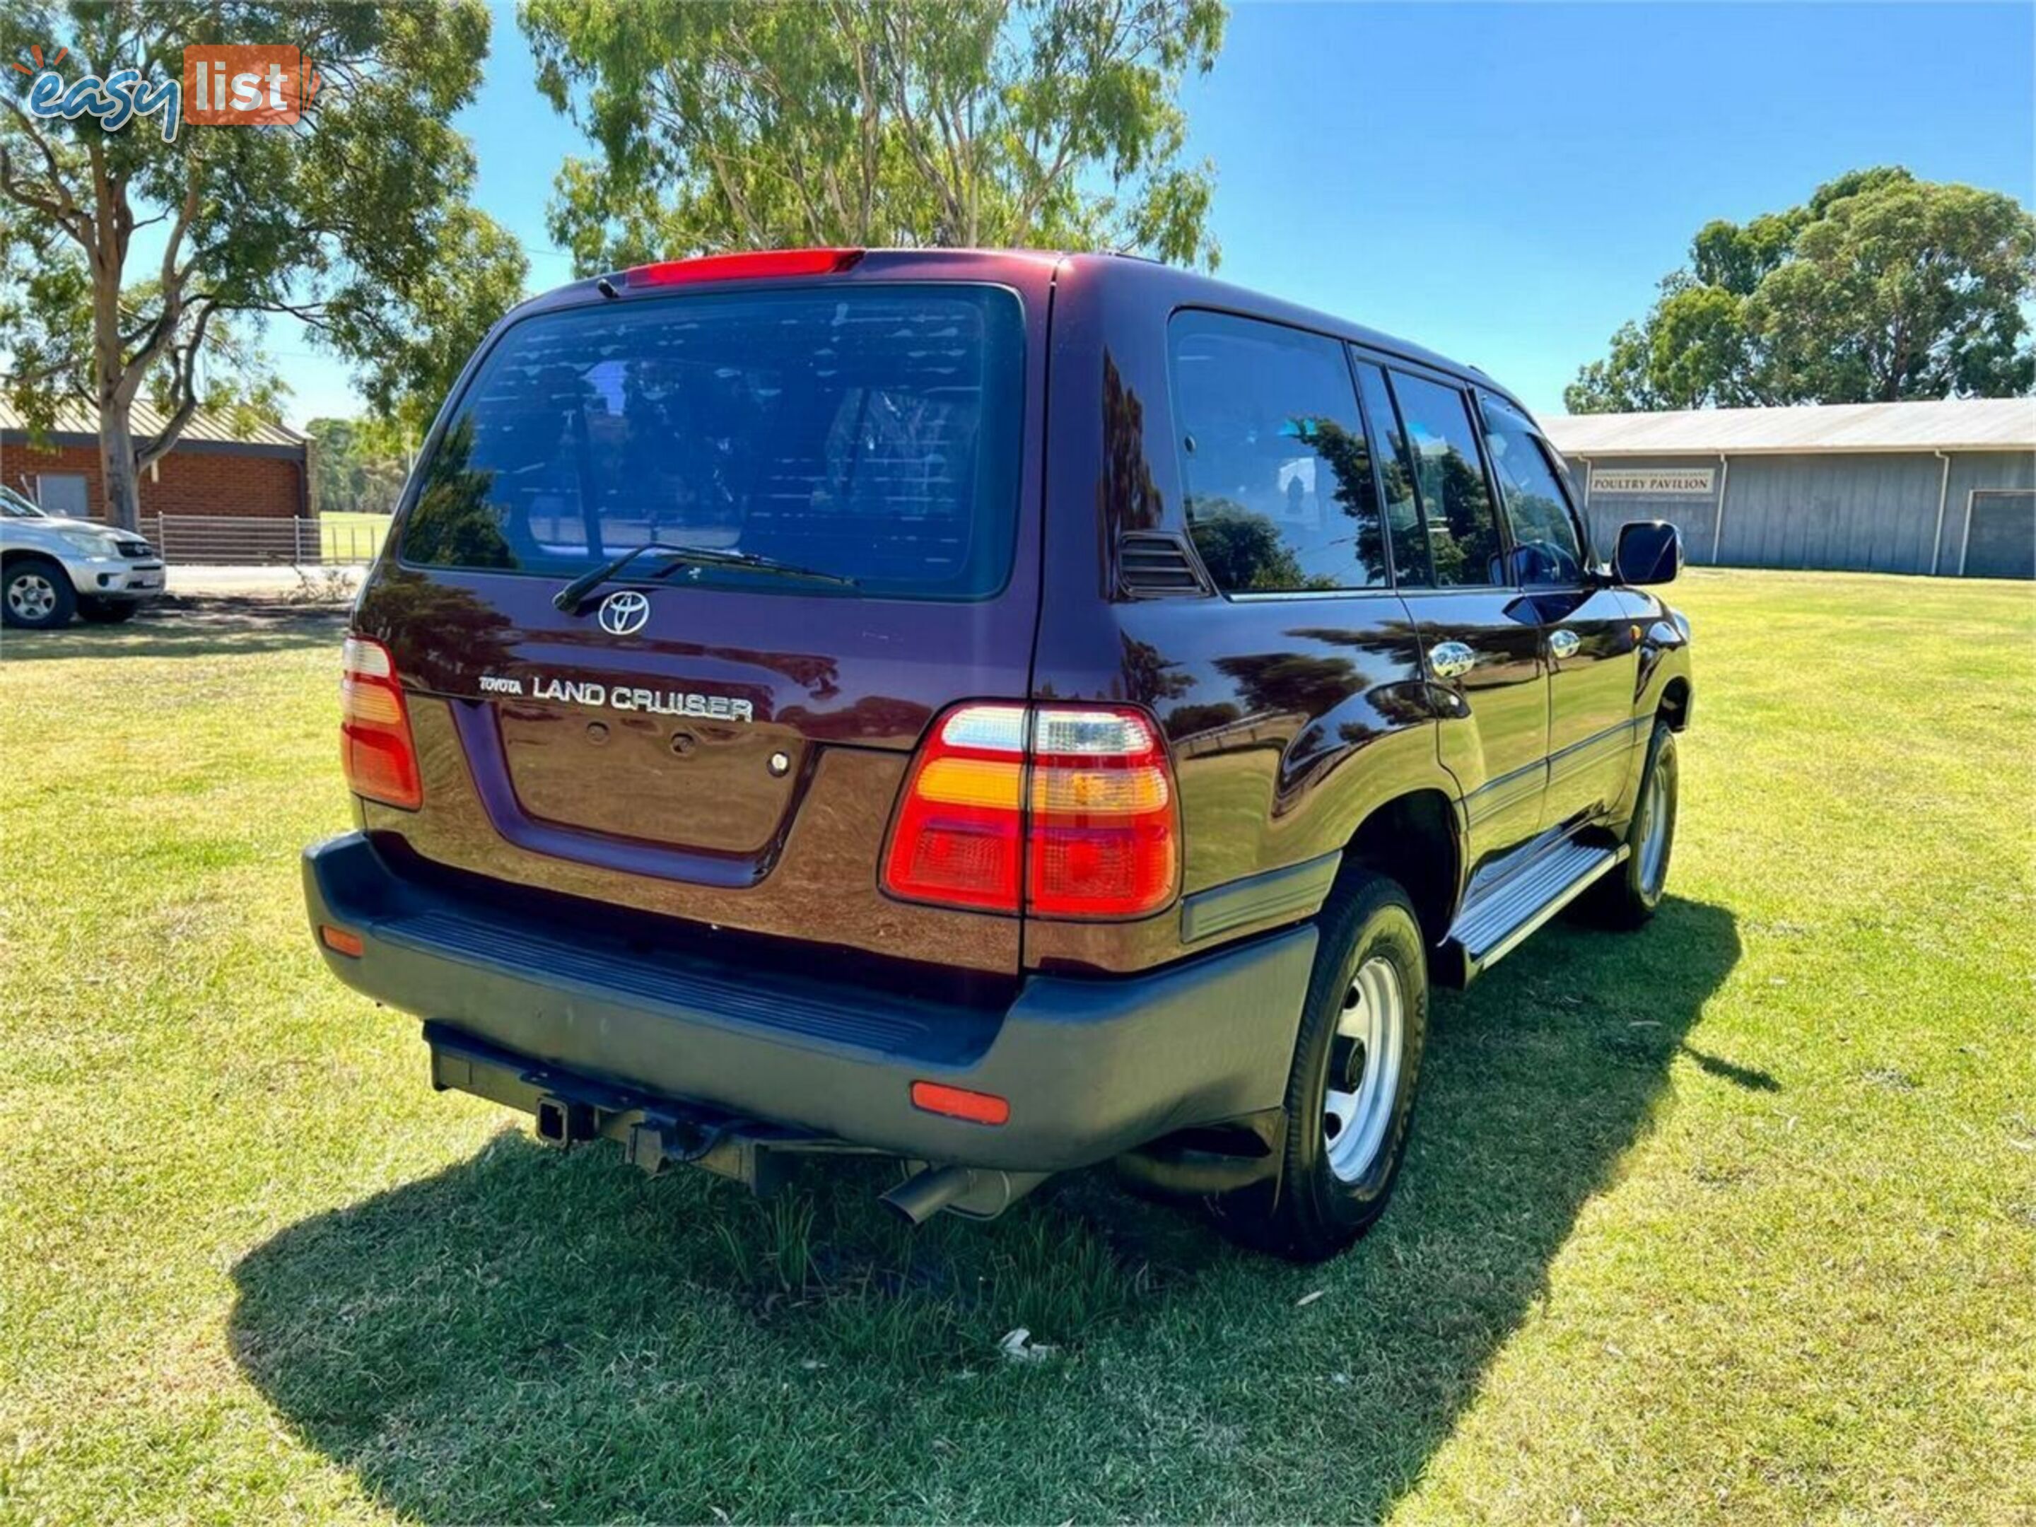
<path id="1" fill-rule="evenodd" d="M 503 1132 L 248 1252 L 232 1352 L 423 1521 L 1374 1519 L 1737 959 L 1731 912 L 1670 900 L 1641 935 L 1558 924 L 1439 994 L 1399 1195 L 1323 1266 L 1238 1252 L 1108 1173 L 908 1232 L 875 1163 L 757 1203 Z M 1706 1051 L 1676 1085 L 1759 1075 Z M 1000 1352 L 1020 1325 L 1053 1350 Z"/>

